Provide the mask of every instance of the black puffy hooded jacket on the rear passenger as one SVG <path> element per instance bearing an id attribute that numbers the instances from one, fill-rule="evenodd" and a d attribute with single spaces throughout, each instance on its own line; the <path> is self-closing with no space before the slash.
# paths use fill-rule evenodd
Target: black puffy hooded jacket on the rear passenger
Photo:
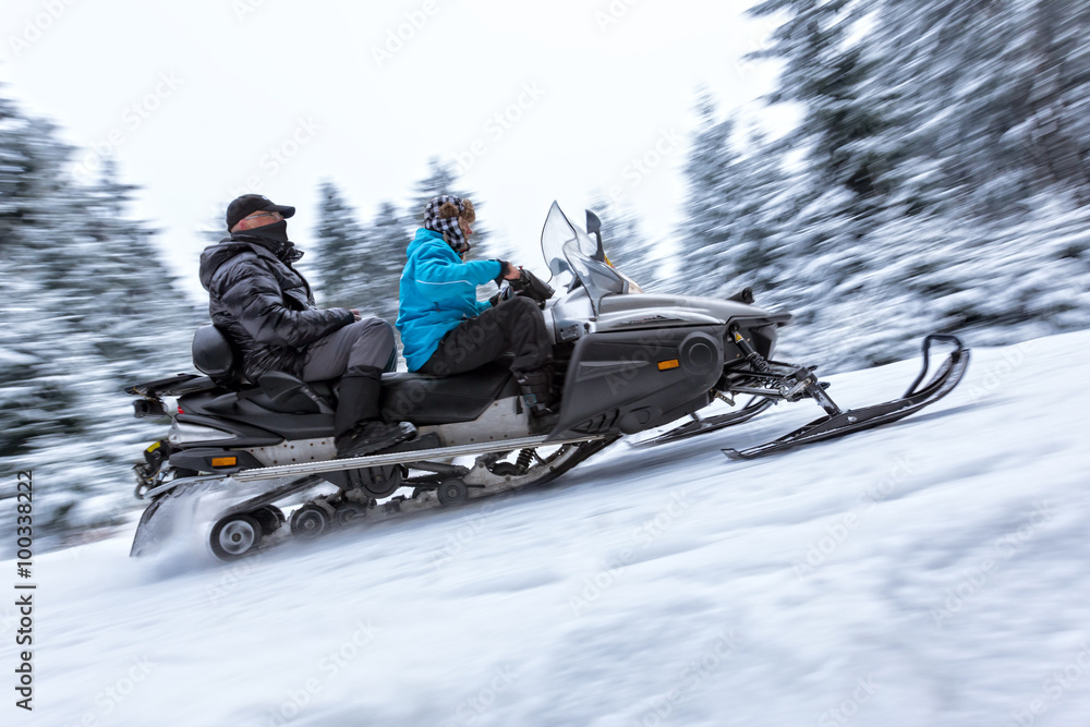
<path id="1" fill-rule="evenodd" d="M 314 304 L 306 279 L 291 267 L 292 252 L 291 243 L 235 233 L 201 253 L 208 313 L 254 383 L 268 371 L 299 376 L 306 347 L 355 319 L 348 308 Z"/>

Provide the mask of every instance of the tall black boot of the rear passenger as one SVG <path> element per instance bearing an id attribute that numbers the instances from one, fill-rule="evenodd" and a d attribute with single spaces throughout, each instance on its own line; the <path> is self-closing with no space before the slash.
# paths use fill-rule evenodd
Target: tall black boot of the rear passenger
<path id="1" fill-rule="evenodd" d="M 363 457 L 416 436 L 409 422 L 387 424 L 378 409 L 383 372 L 358 367 L 341 377 L 334 413 L 337 457 Z"/>

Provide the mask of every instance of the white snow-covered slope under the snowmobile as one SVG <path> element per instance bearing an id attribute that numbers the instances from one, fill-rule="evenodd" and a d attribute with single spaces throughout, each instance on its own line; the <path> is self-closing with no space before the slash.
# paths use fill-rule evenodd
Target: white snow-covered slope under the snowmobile
<path id="1" fill-rule="evenodd" d="M 723 457 L 819 413 L 780 405 L 234 565 L 130 560 L 131 533 L 39 557 L 34 712 L 8 686 L 3 724 L 1090 724 L 1087 351 L 974 350 L 887 427 Z M 899 396 L 918 365 L 831 393 Z"/>

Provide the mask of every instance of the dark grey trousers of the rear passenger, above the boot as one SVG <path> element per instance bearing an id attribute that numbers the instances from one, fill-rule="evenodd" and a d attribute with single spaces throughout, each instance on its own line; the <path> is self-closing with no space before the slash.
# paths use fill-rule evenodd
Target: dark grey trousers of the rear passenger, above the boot
<path id="1" fill-rule="evenodd" d="M 367 368 L 393 371 L 395 363 L 393 328 L 382 318 L 367 317 L 311 343 L 303 363 L 303 380 L 353 376 Z"/>

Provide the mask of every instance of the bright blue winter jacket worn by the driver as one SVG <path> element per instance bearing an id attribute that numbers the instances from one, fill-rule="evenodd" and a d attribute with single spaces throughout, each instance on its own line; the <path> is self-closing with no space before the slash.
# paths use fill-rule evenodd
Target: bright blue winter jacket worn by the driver
<path id="1" fill-rule="evenodd" d="M 409 243 L 409 260 L 401 271 L 398 330 L 409 371 L 432 358 L 439 339 L 467 318 L 492 306 L 479 303 L 476 287 L 499 277 L 499 260 L 463 263 L 443 235 L 416 230 Z"/>

